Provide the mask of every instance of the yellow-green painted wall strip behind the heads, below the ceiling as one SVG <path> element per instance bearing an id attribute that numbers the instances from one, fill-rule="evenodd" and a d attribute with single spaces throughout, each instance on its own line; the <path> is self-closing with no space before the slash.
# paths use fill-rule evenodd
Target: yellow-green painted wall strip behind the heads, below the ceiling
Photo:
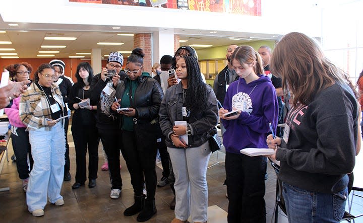
<path id="1" fill-rule="evenodd" d="M 236 45 L 238 45 L 238 46 L 240 46 L 240 45 L 250 45 L 256 51 L 258 50 L 258 48 L 260 46 L 267 45 L 267 46 L 271 47 L 271 49 L 273 50 L 275 48 L 275 41 L 261 41 L 261 40 L 259 40 L 259 41 L 236 43 Z M 227 47 L 228 47 L 228 45 L 211 47 L 211 48 L 207 48 L 207 49 L 198 49 L 197 50 L 198 59 L 199 60 L 206 60 L 206 59 L 225 58 Z"/>

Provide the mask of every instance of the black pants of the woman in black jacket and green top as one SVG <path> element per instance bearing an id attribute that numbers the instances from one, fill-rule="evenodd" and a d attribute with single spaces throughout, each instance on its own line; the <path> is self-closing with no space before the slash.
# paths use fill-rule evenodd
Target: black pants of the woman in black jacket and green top
<path id="1" fill-rule="evenodd" d="M 146 184 L 147 200 L 155 199 L 156 191 L 156 126 L 146 124 L 142 130 L 123 130 L 122 154 L 126 161 L 131 176 L 131 184 L 135 196 L 143 194 L 144 177 Z M 139 126 L 140 127 L 140 124 Z"/>

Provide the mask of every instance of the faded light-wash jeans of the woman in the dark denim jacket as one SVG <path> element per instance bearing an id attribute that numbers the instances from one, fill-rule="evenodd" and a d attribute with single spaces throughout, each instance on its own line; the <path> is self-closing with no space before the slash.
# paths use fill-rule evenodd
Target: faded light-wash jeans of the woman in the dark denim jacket
<path id="1" fill-rule="evenodd" d="M 167 148 L 175 174 L 175 217 L 192 222 L 208 219 L 207 165 L 211 155 L 208 141 L 199 147 Z"/>

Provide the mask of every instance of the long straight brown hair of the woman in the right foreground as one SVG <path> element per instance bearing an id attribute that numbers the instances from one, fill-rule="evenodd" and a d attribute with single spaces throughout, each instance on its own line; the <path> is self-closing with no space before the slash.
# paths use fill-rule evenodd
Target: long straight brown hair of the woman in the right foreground
<path id="1" fill-rule="evenodd" d="M 353 89 L 344 71 L 325 57 L 314 39 L 302 33 L 282 37 L 272 52 L 270 69 L 282 79 L 283 88 L 294 94 L 294 106 L 297 102 L 308 105 L 317 93 L 335 82 L 347 83 Z"/>

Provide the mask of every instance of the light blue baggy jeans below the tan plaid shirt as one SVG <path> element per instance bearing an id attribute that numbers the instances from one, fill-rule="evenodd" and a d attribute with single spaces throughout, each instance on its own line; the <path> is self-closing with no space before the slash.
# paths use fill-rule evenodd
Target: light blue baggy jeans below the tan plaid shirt
<path id="1" fill-rule="evenodd" d="M 64 177 L 66 137 L 62 122 L 50 131 L 29 130 L 34 160 L 26 192 L 29 211 L 44 209 L 47 195 L 50 203 L 63 198 L 61 189 Z"/>

